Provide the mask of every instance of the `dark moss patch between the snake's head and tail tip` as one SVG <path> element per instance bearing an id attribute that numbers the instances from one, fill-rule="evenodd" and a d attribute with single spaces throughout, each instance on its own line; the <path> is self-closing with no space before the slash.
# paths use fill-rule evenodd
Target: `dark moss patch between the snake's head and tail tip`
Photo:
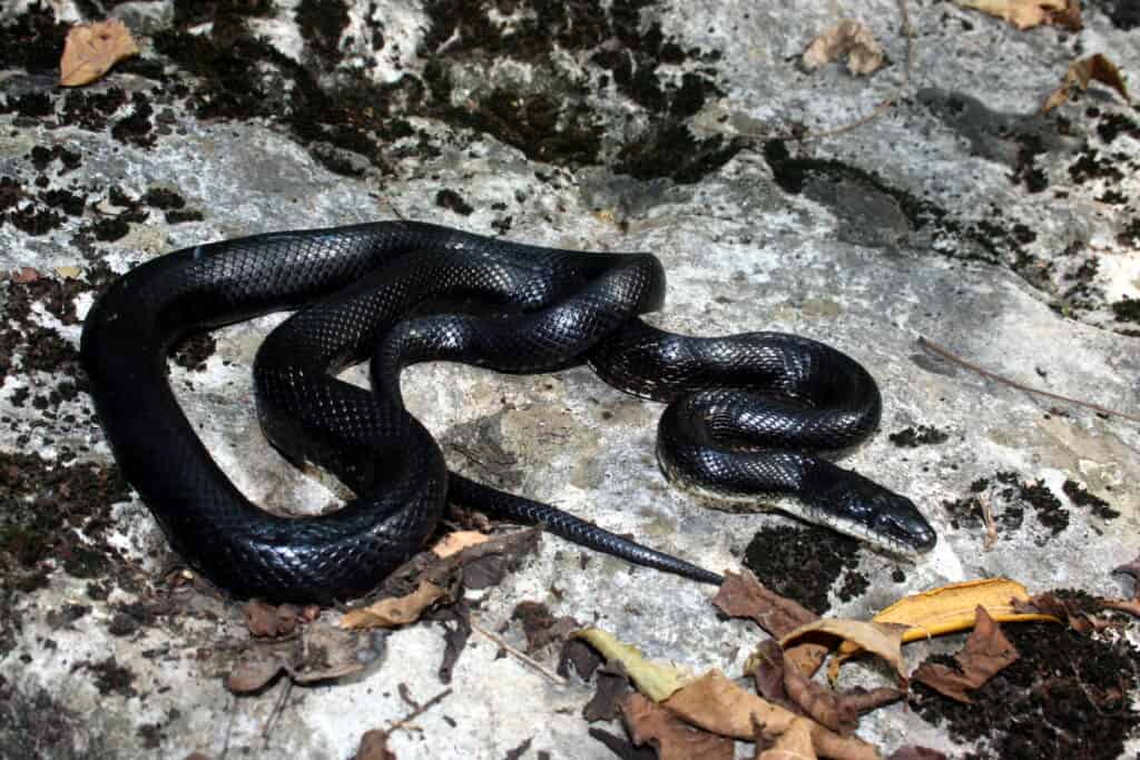
<path id="1" fill-rule="evenodd" d="M 777 525 L 757 531 L 743 564 L 776 594 L 822 615 L 831 608 L 828 595 L 840 575 L 838 596 L 844 602 L 869 588 L 866 577 L 857 572 L 858 551 L 858 541 L 826 528 Z"/>

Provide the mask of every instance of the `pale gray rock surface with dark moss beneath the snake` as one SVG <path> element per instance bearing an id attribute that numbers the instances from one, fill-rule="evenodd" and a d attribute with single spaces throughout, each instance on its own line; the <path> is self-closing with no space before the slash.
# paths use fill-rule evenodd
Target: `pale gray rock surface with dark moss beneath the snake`
<path id="1" fill-rule="evenodd" d="M 85 395 L 66 387 L 81 391 L 82 381 L 70 353 L 80 325 L 65 317 L 72 302 L 73 317 L 90 307 L 109 276 L 104 262 L 122 272 L 170 250 L 260 231 L 400 216 L 537 244 L 651 251 L 670 278 L 656 324 L 705 335 L 799 333 L 850 353 L 880 383 L 882 431 L 846 464 L 912 497 L 940 540 L 913 565 L 861 553 L 870 588 L 848 600 L 833 589 L 829 614 L 869 616 L 907 593 L 982 577 L 1013 578 L 1031 591 L 1122 594 L 1109 571 L 1140 551 L 1140 427 L 995 383 L 918 338 L 1052 393 L 1140 408 L 1140 117 L 1098 84 L 1036 114 L 1076 57 L 1101 51 L 1122 71 L 1140 71 L 1124 3 L 1086 8 L 1077 33 L 1021 32 L 948 2 L 907 3 L 915 63 L 897 105 L 803 144 L 756 136 L 841 128 L 893 96 L 907 58 L 896 3 L 842 9 L 885 47 L 889 65 L 871 77 L 795 63 L 840 17 L 825 2 L 552 10 L 278 0 L 262 3 L 264 14 L 222 13 L 212 24 L 163 1 L 48 5 L 62 22 L 90 19 L 101 5 L 148 36 L 140 60 L 66 92 L 41 63 L 55 54 L 38 58 L 19 44 L 33 31 L 43 47 L 58 42 L 51 11 L 17 2 L 0 13 L 9 50 L 0 54 L 0 182 L 10 180 L 0 183 L 0 268 L 33 268 L 64 292 L 62 305 L 50 301 L 55 291 L 15 280 L 0 294 L 3 509 L 44 509 L 59 522 L 41 530 L 67 536 L 47 540 L 50 550 L 27 549 L 3 588 L 9 727 L 0 727 L 0 755 L 24 747 L 24 757 L 345 758 L 365 730 L 409 711 L 399 685 L 421 702 L 443 688 L 441 629 L 424 623 L 388 636 L 383 655 L 347 680 L 290 689 L 282 679 L 235 697 L 223 676 L 244 640 L 238 607 L 189 588 L 172 607 L 153 607 L 177 557 L 137 497 L 106 487 L 111 453 Z M 471 21 L 488 17 L 497 21 L 487 28 Z M 243 42 L 243 28 L 260 47 Z M 217 47 L 190 55 L 189 39 Z M 211 68 L 219 50 L 247 58 Z M 85 204 L 78 213 L 54 207 L 52 190 Z M 274 510 L 320 512 L 339 501 L 335 491 L 269 449 L 253 411 L 249 367 L 279 319 L 219 330 L 204 367 L 172 363 L 171 381 L 245 493 Z M 365 382 L 361 371 L 351 376 Z M 792 524 L 710 510 L 669 489 L 653 456 L 658 404 L 586 369 L 504 377 L 421 366 L 404 389 L 453 467 L 701 565 L 738 569 L 757 530 Z M 920 426 L 947 439 L 917 448 L 888 440 Z M 79 502 L 99 510 L 98 524 L 46 506 L 72 498 L 60 497 L 59 479 L 81 469 L 96 473 L 83 476 L 90 496 Z M 955 529 L 946 504 L 1008 472 L 1017 483 L 1040 481 L 1068 526 L 1054 534 L 1026 509 L 986 550 L 984 530 Z M 1076 507 L 1066 481 L 1119 516 Z M 0 522 L 0 562 L 16 556 L 17 540 L 44 544 L 13 538 L 14 524 L 26 529 L 14 520 Z M 117 554 L 84 565 L 88 546 Z M 891 580 L 898 567 L 902 582 Z M 512 611 L 542 602 L 650 656 L 736 673 L 759 637 L 750 623 L 719 620 L 710 596 L 546 538 L 483 593 L 475 614 L 521 646 Z M 1121 635 L 1134 641 L 1135 628 Z M 907 661 L 929 651 L 907 647 Z M 539 660 L 553 665 L 554 656 Z M 856 680 L 879 672 L 852 671 Z M 555 685 L 478 634 L 450 687 L 415 730 L 392 735 L 401 760 L 499 758 L 528 741 L 522 757 L 606 757 L 580 717 L 592 687 Z M 955 746 L 905 705 L 864 718 L 860 735 L 885 754 L 904 743 Z"/>

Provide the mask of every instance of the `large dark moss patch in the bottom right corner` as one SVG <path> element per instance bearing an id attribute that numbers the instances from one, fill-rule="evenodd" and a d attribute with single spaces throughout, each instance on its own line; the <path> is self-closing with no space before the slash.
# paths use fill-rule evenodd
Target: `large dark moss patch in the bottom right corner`
<path id="1" fill-rule="evenodd" d="M 961 704 L 919 683 L 911 704 L 959 742 L 979 742 L 966 758 L 1115 760 L 1140 726 L 1130 694 L 1137 655 L 1126 640 L 1105 640 L 1052 623 L 1002 626 L 1021 657 Z M 930 657 L 952 664 L 945 655 Z"/>

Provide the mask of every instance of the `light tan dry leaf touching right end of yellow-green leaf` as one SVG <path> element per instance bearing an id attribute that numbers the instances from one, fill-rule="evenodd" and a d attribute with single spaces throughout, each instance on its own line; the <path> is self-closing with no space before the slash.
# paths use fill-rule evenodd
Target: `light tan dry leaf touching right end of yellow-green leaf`
<path id="1" fill-rule="evenodd" d="M 773 737 L 788 730 L 792 721 L 804 720 L 780 705 L 746 692 L 715 668 L 678 689 L 663 705 L 705 730 L 746 741 L 755 738 L 757 724 L 765 736 Z M 839 736 L 819 724 L 809 722 L 809 726 L 812 744 L 822 757 L 879 760 L 878 751 L 861 739 Z"/>

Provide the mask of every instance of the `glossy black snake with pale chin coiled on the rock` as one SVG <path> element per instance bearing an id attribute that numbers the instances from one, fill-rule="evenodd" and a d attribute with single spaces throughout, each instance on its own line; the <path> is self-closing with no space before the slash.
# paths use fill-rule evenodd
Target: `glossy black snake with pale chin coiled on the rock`
<path id="1" fill-rule="evenodd" d="M 670 402 L 658 457 L 670 480 L 717 498 L 795 495 L 811 520 L 913 553 L 935 534 L 904 497 L 809 453 L 873 431 L 871 376 L 823 344 L 776 333 L 683 337 L 637 316 L 665 275 L 649 254 L 543 248 L 414 222 L 256 235 L 186 248 L 131 270 L 83 327 L 90 392 L 125 476 L 186 562 L 242 597 L 363 595 L 417 551 L 448 500 L 705 582 L 718 575 L 551 506 L 448 473 L 404 407 L 400 373 L 461 361 L 506 373 L 589 363 L 611 385 Z M 222 473 L 171 392 L 180 338 L 298 310 L 258 351 L 258 415 L 295 463 L 356 498 L 286 518 Z M 370 357 L 372 391 L 337 379 Z"/>

